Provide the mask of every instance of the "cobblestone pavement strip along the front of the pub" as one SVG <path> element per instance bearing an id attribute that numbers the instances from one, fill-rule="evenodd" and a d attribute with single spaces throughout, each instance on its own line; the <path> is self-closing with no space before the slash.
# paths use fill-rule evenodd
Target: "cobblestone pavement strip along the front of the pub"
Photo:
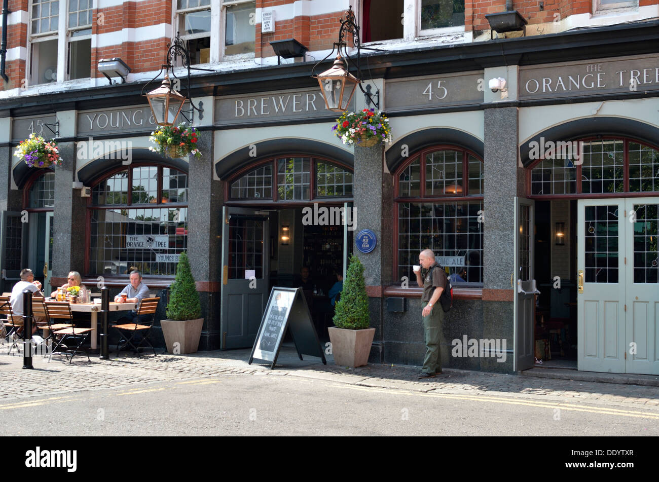
<path id="1" fill-rule="evenodd" d="M 445 370 L 434 379 L 416 379 L 418 367 L 375 365 L 349 369 L 314 362 L 300 362 L 293 353 L 280 355 L 282 365 L 271 370 L 264 365 L 248 365 L 250 350 L 198 352 L 176 356 L 159 354 L 142 358 L 126 357 L 100 360 L 92 356 L 64 363 L 63 357 L 50 363 L 34 357 L 34 369 L 22 369 L 22 356 L 0 354 L 0 399 L 51 396 L 80 390 L 138 388 L 146 383 L 217 377 L 221 375 L 265 375 L 268 377 L 306 377 L 381 389 L 412 390 L 435 394 L 507 396 L 548 402 L 587 402 L 591 405 L 643 408 L 659 413 L 659 388 L 521 377 L 499 373 Z M 114 354 L 111 354 L 114 357 Z"/>

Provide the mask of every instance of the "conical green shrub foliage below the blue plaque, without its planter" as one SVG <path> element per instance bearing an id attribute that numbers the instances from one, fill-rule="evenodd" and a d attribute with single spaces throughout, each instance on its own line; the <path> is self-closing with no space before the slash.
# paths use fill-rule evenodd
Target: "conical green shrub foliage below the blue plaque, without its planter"
<path id="1" fill-rule="evenodd" d="M 341 299 L 337 302 L 334 325 L 349 330 L 364 330 L 370 325 L 368 296 L 364 284 L 364 265 L 354 254 L 343 281 Z"/>

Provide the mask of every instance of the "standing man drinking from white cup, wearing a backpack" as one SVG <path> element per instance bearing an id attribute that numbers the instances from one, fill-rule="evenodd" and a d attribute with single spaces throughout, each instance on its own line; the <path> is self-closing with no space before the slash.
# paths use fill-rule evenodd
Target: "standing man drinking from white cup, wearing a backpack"
<path id="1" fill-rule="evenodd" d="M 435 254 L 432 250 L 420 252 L 418 263 L 426 270 L 424 279 L 421 278 L 420 269 L 415 271 L 416 284 L 423 288 L 423 296 L 421 297 L 423 311 L 421 315 L 426 335 L 426 356 L 418 378 L 432 378 L 435 373 L 442 373 L 440 331 L 444 322 L 444 310 L 442 306 L 438 306 L 438 302 L 444 288 L 446 288 L 446 275 L 444 269 L 435 261 Z"/>

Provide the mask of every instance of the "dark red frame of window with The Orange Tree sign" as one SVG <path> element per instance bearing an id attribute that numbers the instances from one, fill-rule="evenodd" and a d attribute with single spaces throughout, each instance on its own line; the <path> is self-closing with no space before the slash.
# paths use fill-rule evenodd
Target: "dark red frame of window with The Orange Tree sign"
<path id="1" fill-rule="evenodd" d="M 160 200 L 158 203 L 132 203 L 132 171 L 136 167 L 156 167 L 158 168 L 158 192 L 156 199 Z M 162 187 L 163 187 L 163 169 L 170 169 L 172 171 L 177 171 L 178 173 L 185 174 L 188 176 L 188 189 L 189 189 L 189 179 L 190 179 L 190 174 L 179 170 L 177 167 L 172 167 L 171 165 L 168 165 L 166 163 L 159 163 L 159 162 L 147 162 L 147 161 L 142 161 L 142 162 L 133 162 L 128 166 L 121 165 L 115 167 L 115 169 L 111 169 L 109 171 L 105 171 L 105 173 L 101 174 L 94 182 L 90 184 L 90 188 L 92 190 L 92 193 L 94 191 L 94 188 L 101 184 L 101 182 L 104 182 L 105 180 L 111 178 L 112 176 L 115 176 L 117 173 L 121 173 L 121 171 L 126 171 L 128 170 L 129 176 L 128 176 L 128 192 L 127 192 L 127 203 L 126 204 L 105 204 L 105 205 L 94 205 L 92 203 L 92 200 L 94 199 L 94 196 L 90 196 L 87 200 L 87 209 L 86 209 L 86 220 L 85 220 L 85 227 L 86 227 L 86 236 L 85 236 L 85 255 L 84 255 L 84 273 L 85 277 L 96 277 L 96 276 L 103 276 L 105 279 L 112 281 L 125 281 L 126 277 L 123 275 L 105 275 L 105 273 L 91 273 L 91 254 L 92 254 L 92 238 L 91 238 L 91 232 L 92 232 L 92 211 L 108 211 L 108 210 L 114 210 L 114 209 L 167 209 L 168 207 L 182 207 L 185 209 L 188 209 L 188 216 L 189 216 L 189 198 L 188 201 L 185 203 L 181 202 L 176 202 L 176 203 L 163 203 L 162 202 Z M 188 192 L 189 194 L 189 192 Z M 188 218 L 189 222 L 189 218 Z M 144 279 L 153 279 L 153 280 L 171 280 L 175 278 L 175 275 L 143 275 Z M 111 283 L 110 283 L 111 284 Z M 126 283 L 127 284 L 127 283 Z"/>

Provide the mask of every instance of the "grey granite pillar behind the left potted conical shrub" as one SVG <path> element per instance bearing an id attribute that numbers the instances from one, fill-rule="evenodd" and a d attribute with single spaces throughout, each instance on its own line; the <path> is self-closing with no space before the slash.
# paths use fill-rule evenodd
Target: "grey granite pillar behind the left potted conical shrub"
<path id="1" fill-rule="evenodd" d="M 202 157 L 190 157 L 188 171 L 188 257 L 202 304 L 200 350 L 220 348 L 222 182 L 213 175 L 213 131 L 199 133 Z"/>

